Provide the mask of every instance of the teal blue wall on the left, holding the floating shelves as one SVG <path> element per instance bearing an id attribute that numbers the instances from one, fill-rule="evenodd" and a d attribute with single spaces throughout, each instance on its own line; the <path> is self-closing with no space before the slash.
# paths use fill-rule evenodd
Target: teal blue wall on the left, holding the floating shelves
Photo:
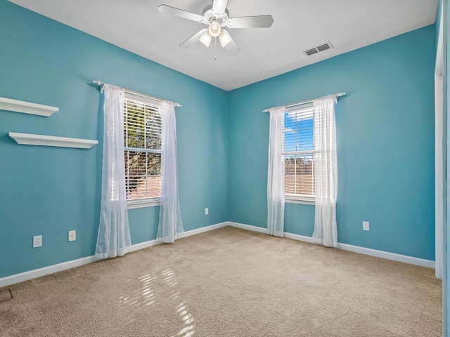
<path id="1" fill-rule="evenodd" d="M 60 108 L 48 118 L 0 111 L 0 277 L 94 253 L 103 115 L 93 79 L 183 105 L 176 126 L 184 228 L 229 218 L 225 91 L 0 0 L 0 97 Z M 91 150 L 17 145 L 10 131 L 100 144 Z M 133 244 L 155 239 L 158 210 L 129 211 Z M 77 230 L 76 242 L 68 242 L 68 230 Z M 32 249 L 38 234 L 43 246 Z"/>

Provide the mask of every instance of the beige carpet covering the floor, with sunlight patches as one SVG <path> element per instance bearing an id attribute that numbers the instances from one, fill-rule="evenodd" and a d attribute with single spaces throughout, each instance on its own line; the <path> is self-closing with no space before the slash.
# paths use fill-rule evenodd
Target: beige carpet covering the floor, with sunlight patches
<path id="1" fill-rule="evenodd" d="M 233 227 L 8 289 L 0 336 L 442 335 L 434 270 Z"/>

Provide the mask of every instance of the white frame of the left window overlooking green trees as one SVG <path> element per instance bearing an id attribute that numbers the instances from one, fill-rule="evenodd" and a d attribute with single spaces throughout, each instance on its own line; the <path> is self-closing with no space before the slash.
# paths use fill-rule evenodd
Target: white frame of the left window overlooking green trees
<path id="1" fill-rule="evenodd" d="M 162 132 L 162 101 L 152 98 L 147 95 L 139 94 L 139 93 L 132 93 L 125 91 L 124 93 L 124 133 L 127 131 L 125 127 L 126 119 L 127 119 L 127 110 L 126 105 L 127 101 L 134 101 L 137 103 L 143 103 L 148 104 L 150 106 L 158 106 L 158 108 L 161 111 L 161 132 Z M 125 140 L 125 135 L 124 135 Z M 134 151 L 134 152 L 146 152 L 146 153 L 159 153 L 162 155 L 162 146 L 161 150 L 153 150 L 153 149 L 145 149 L 141 147 L 127 147 L 124 141 L 124 154 L 127 151 Z M 161 166 L 162 166 L 162 158 L 161 158 Z M 125 182 L 127 181 L 127 177 L 129 177 L 129 173 L 127 172 L 127 167 L 124 167 L 124 173 L 125 173 Z M 125 183 L 125 188 L 126 188 Z M 151 207 L 151 206 L 160 206 L 161 203 L 161 194 L 159 197 L 151 197 L 151 198 L 145 198 L 145 199 L 128 199 L 127 196 L 127 209 L 140 209 L 143 207 Z"/>

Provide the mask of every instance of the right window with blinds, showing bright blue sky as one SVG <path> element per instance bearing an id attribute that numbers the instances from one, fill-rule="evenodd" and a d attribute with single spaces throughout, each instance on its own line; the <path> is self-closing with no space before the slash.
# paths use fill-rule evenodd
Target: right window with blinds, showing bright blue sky
<path id="1" fill-rule="evenodd" d="M 285 199 L 314 202 L 314 117 L 312 104 L 286 109 L 284 115 Z"/>

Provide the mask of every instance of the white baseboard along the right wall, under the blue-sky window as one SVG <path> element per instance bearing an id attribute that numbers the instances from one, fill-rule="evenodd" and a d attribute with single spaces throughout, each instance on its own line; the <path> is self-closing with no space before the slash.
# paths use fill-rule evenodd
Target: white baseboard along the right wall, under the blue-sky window
<path id="1" fill-rule="evenodd" d="M 242 223 L 229 223 L 230 226 L 238 227 L 243 230 L 252 230 L 253 232 L 259 233 L 267 233 L 266 228 L 252 226 L 252 225 L 244 225 Z M 304 235 L 292 234 L 292 233 L 284 233 L 284 237 L 288 239 L 294 239 L 302 242 L 308 242 L 309 244 L 318 244 L 315 239 L 312 237 L 305 237 Z M 351 244 L 340 244 L 338 243 L 338 249 L 342 249 L 343 251 L 352 251 L 354 253 L 360 253 L 368 256 L 375 256 L 377 258 L 385 258 L 387 260 L 394 260 L 403 263 L 409 263 L 411 265 L 420 265 L 422 267 L 435 268 L 435 261 L 425 260 L 423 258 L 414 258 L 413 256 L 406 256 L 396 253 L 389 253 L 387 251 L 378 251 L 376 249 L 370 249 L 360 246 L 353 246 Z"/>

